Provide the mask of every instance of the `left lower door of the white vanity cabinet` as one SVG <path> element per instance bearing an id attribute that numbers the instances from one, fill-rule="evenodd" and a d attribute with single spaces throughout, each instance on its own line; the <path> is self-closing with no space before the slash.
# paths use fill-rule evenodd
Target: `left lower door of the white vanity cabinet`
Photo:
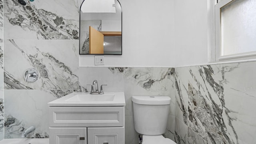
<path id="1" fill-rule="evenodd" d="M 50 144 L 86 144 L 86 128 L 49 128 Z"/>

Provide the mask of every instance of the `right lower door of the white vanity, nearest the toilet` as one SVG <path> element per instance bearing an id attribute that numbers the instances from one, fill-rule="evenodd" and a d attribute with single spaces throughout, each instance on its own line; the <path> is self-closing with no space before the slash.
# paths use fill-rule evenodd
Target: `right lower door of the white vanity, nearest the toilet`
<path id="1" fill-rule="evenodd" d="M 88 144 L 124 144 L 124 127 L 88 128 Z"/>

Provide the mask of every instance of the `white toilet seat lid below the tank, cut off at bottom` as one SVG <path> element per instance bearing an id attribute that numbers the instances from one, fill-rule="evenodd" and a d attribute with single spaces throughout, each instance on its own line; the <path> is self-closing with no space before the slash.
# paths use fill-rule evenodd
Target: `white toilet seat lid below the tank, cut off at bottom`
<path id="1" fill-rule="evenodd" d="M 164 138 L 162 135 L 157 136 L 142 136 L 142 144 L 176 144 L 176 142 L 169 138 Z"/>

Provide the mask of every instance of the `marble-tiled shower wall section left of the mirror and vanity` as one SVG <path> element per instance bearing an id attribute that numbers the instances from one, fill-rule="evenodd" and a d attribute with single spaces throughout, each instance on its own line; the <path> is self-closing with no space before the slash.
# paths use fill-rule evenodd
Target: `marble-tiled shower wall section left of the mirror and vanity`
<path id="1" fill-rule="evenodd" d="M 0 60 L 4 58 L 4 74 L 0 77 L 4 80 L 0 80 L 4 84 L 0 88 L 4 89 L 4 115 L 1 112 L 0 129 L 4 127 L 5 138 L 21 138 L 27 128 L 35 126 L 27 138 L 48 138 L 47 103 L 79 91 L 80 0 L 25 2 L 1 0 L 4 53 L 0 51 Z M 36 82 L 25 82 L 27 68 L 38 70 Z"/>

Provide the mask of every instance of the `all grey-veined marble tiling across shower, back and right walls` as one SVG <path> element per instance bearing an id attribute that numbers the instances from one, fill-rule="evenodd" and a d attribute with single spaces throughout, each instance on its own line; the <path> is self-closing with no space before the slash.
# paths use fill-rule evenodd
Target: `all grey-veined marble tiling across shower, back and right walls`
<path id="1" fill-rule="evenodd" d="M 80 1 L 35 0 L 23 6 L 0 0 L 0 140 L 20 138 L 30 126 L 36 130 L 28 138 L 47 138 L 47 102 L 85 92 L 96 79 L 108 84 L 105 92 L 125 92 L 126 144 L 138 144 L 133 95 L 171 97 L 165 135 L 177 144 L 256 143 L 256 62 L 175 73 L 174 68 L 79 68 Z M 30 67 L 40 73 L 34 83 L 23 78 Z"/>

